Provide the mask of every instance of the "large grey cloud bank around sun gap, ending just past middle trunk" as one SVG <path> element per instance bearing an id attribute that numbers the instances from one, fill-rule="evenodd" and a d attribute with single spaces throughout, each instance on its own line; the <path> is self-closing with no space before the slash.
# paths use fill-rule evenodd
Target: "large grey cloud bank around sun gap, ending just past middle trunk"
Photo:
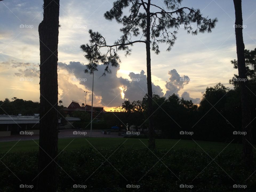
<path id="1" fill-rule="evenodd" d="M 58 66 L 59 69 L 64 69 L 75 77 L 70 79 L 71 82 L 79 82 L 80 85 L 83 85 L 84 89 L 90 92 L 88 93 L 87 101 L 91 101 L 92 75 L 83 72 L 86 66 L 80 62 L 70 62 L 69 64 L 60 62 Z M 140 74 L 131 72 L 129 74 L 130 79 L 124 79 L 117 77 L 119 66 L 116 68 L 111 67 L 112 74 L 101 77 L 104 69 L 104 65 L 98 65 L 98 71 L 94 72 L 94 101 L 100 105 L 108 107 L 120 106 L 125 99 L 129 99 L 130 101 L 142 100 L 147 93 L 147 77 L 143 70 Z M 124 95 L 122 95 L 121 88 L 123 89 Z M 61 89 L 65 88 L 63 87 Z M 161 97 L 163 96 L 160 86 L 152 83 L 152 90 L 155 94 Z M 84 94 L 83 91 L 81 93 Z M 70 101 L 79 100 L 81 95 L 72 95 L 72 97 Z"/>

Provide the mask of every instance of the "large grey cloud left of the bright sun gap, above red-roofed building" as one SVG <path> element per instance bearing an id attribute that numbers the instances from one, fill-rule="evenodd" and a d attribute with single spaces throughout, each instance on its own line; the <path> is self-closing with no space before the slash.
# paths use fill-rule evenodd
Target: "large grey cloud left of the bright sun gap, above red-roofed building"
<path id="1" fill-rule="evenodd" d="M 75 76 L 75 78 L 71 79 L 73 83 L 79 82 L 79 84 L 84 86 L 84 90 L 86 89 L 88 92 L 88 100 L 91 101 L 91 90 L 92 90 L 92 81 L 93 75 L 85 74 L 83 70 L 86 68 L 80 62 L 70 62 L 69 65 L 65 63 L 58 63 L 60 69 L 65 69 L 69 72 L 70 75 Z M 100 103 L 103 106 L 114 107 L 119 106 L 120 103 L 124 102 L 125 100 L 121 97 L 121 90 L 119 87 L 122 86 L 121 81 L 125 82 L 123 78 L 117 77 L 117 71 L 119 67 L 111 67 L 112 74 L 107 74 L 105 77 L 101 77 L 102 73 L 105 69 L 104 65 L 98 66 L 98 71 L 94 72 L 94 98 L 95 102 Z M 83 93 L 83 91 L 82 91 Z M 84 93 L 83 93 L 84 94 Z M 76 95 L 73 95 L 73 99 L 75 100 L 78 98 Z M 99 102 L 100 101 L 100 102 Z"/>

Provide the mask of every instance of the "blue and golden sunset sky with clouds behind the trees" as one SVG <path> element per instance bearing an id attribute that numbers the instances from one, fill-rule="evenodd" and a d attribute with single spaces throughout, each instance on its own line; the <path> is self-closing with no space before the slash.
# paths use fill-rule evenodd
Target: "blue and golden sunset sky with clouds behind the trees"
<path id="1" fill-rule="evenodd" d="M 86 104 L 91 105 L 92 75 L 83 72 L 88 61 L 79 47 L 89 42 L 89 29 L 101 33 L 108 44 L 121 36 L 122 25 L 103 17 L 113 2 L 60 1 L 58 99 L 66 107 L 72 100 L 85 103 L 84 91 Z M 152 2 L 164 7 L 163 0 Z M 42 0 L 0 2 L 0 100 L 17 97 L 39 101 L 38 25 L 43 19 L 42 5 Z M 198 104 L 207 86 L 221 82 L 232 88 L 229 79 L 238 73 L 230 63 L 237 58 L 234 4 L 232 0 L 183 0 L 181 6 L 198 8 L 203 16 L 217 17 L 218 22 L 212 33 L 194 36 L 180 27 L 171 51 L 166 51 L 164 43 L 160 54 L 151 51 L 152 87 L 161 97 L 176 93 Z M 243 0 L 242 12 L 245 48 L 251 50 L 256 47 L 256 1 Z M 93 105 L 106 111 L 121 106 L 125 99 L 141 100 L 147 93 L 145 44 L 134 44 L 130 56 L 125 57 L 122 50 L 118 54 L 122 62 L 111 68 L 112 74 L 100 77 L 103 65 L 94 74 Z"/>

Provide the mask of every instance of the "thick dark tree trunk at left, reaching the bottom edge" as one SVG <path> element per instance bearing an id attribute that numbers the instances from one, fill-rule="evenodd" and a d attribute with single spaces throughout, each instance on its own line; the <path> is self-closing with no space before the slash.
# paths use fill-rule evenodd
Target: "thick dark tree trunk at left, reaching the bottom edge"
<path id="1" fill-rule="evenodd" d="M 44 0 L 40 40 L 40 134 L 38 191 L 56 192 L 58 153 L 59 0 Z M 52 160 L 54 159 L 54 161 Z"/>

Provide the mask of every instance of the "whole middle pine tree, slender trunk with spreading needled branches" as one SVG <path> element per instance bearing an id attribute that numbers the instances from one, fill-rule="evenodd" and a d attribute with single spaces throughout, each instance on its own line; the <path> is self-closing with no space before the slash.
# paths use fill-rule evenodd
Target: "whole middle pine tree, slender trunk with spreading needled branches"
<path id="1" fill-rule="evenodd" d="M 217 18 L 211 20 L 202 17 L 199 9 L 179 7 L 181 2 L 182 0 L 165 0 L 165 8 L 162 8 L 154 5 L 151 0 L 147 0 L 147 2 L 143 0 L 115 1 L 112 9 L 107 11 L 104 16 L 107 20 L 115 19 L 118 23 L 123 24 L 120 29 L 123 33 L 121 38 L 115 41 L 113 45 L 108 45 L 100 33 L 89 30 L 90 44 L 80 46 L 85 52 L 85 57 L 89 60 L 89 65 L 98 65 L 99 62 L 106 65 L 103 73 L 103 75 L 106 75 L 106 73 L 111 73 L 111 66 L 117 67 L 120 63 L 120 58 L 117 54 L 118 50 L 124 50 L 125 55 L 130 55 L 131 49 L 129 46 L 133 46 L 134 43 L 145 43 L 150 148 L 155 148 L 150 46 L 156 54 L 159 54 L 158 44 L 167 43 L 167 51 L 170 51 L 171 46 L 174 45 L 177 39 L 175 34 L 177 34 L 180 25 L 183 25 L 188 33 L 196 35 L 198 32 L 211 32 L 217 22 Z M 123 10 L 129 6 L 130 15 L 123 16 Z M 196 23 L 194 31 L 190 23 Z M 172 28 L 174 30 L 170 31 Z M 132 41 L 132 36 L 137 37 L 137 39 Z M 100 51 L 102 47 L 108 48 L 106 53 Z"/>

